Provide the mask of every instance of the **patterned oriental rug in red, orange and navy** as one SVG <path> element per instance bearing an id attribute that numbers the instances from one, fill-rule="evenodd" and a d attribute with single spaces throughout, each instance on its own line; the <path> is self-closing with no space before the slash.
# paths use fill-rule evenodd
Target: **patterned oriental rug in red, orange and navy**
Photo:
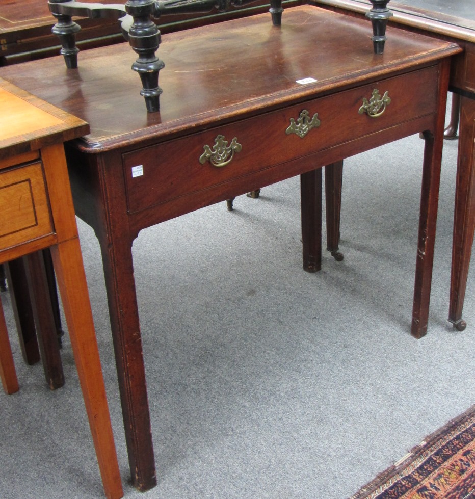
<path id="1" fill-rule="evenodd" d="M 350 499 L 475 498 L 475 406 L 426 437 Z"/>

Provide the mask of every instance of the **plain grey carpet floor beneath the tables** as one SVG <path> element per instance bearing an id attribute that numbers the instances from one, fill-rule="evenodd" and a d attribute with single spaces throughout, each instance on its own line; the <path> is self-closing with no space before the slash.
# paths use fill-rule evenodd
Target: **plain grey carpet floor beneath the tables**
<path id="1" fill-rule="evenodd" d="M 475 310 L 447 323 L 457 142 L 445 142 L 429 332 L 409 334 L 423 141 L 345 163 L 342 262 L 301 270 L 298 178 L 144 230 L 135 275 L 158 485 L 129 484 L 98 243 L 78 221 L 125 497 L 345 499 L 475 403 Z M 324 226 L 325 229 L 325 226 Z M 324 238 L 325 245 L 325 238 Z M 0 498 L 102 488 L 66 336 L 66 385 L 21 358 L 0 395 Z"/>

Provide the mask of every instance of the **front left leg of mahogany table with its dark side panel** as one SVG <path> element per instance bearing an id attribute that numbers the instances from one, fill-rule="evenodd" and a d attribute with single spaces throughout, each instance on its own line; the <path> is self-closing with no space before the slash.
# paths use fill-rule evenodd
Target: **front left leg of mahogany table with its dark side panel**
<path id="1" fill-rule="evenodd" d="M 156 485 L 155 457 L 122 155 L 111 151 L 96 162 L 91 154 L 88 163 L 69 152 L 66 147 L 76 214 L 94 228 L 101 248 L 131 481 L 145 491 Z"/>

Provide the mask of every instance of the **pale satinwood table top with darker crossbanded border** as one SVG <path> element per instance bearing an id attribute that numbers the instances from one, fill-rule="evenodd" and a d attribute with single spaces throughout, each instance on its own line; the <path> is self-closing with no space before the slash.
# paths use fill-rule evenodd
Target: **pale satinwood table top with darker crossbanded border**
<path id="1" fill-rule="evenodd" d="M 88 132 L 85 121 L 0 78 L 0 159 Z"/>

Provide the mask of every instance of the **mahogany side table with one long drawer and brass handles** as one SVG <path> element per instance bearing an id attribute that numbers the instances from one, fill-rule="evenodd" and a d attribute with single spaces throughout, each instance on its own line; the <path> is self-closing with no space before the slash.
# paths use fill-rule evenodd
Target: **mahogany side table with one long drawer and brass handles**
<path id="1" fill-rule="evenodd" d="M 144 109 L 126 44 L 84 52 L 75 70 L 50 58 L 0 71 L 90 123 L 66 153 L 76 214 L 101 246 L 129 465 L 141 490 L 156 477 L 131 253 L 140 230 L 301 175 L 303 266 L 317 270 L 319 168 L 425 131 L 412 332 L 427 329 L 448 58 L 460 48 L 389 27 L 379 57 L 366 19 L 312 6 L 282 19 L 280 28 L 266 13 L 164 35 L 159 113 Z M 303 78 L 312 80 L 297 83 Z M 375 88 L 392 99 L 377 119 L 359 113 Z M 286 134 L 303 110 L 320 126 L 304 138 Z M 222 168 L 200 162 L 219 135 L 242 145 Z"/>

